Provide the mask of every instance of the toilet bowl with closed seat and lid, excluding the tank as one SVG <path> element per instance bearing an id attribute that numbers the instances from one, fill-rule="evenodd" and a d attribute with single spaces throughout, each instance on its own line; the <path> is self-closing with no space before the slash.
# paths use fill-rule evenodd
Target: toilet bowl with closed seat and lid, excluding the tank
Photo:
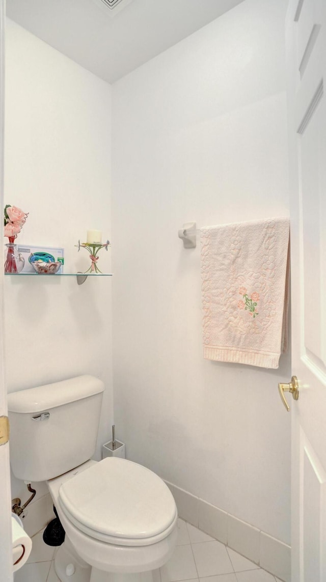
<path id="1" fill-rule="evenodd" d="M 117 457 L 90 460 L 47 484 L 66 535 L 94 568 L 140 573 L 172 555 L 175 502 L 145 467 Z"/>

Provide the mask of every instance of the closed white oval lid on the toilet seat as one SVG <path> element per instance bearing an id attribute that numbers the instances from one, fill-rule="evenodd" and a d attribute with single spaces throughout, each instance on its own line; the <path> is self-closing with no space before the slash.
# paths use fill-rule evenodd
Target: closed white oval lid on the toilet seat
<path id="1" fill-rule="evenodd" d="M 59 489 L 62 509 L 88 534 L 141 540 L 176 519 L 171 492 L 158 475 L 137 463 L 107 457 Z"/>

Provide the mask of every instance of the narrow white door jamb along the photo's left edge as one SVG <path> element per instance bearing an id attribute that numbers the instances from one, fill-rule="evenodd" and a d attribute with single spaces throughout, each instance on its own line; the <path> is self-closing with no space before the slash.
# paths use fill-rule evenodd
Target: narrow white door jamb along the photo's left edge
<path id="1" fill-rule="evenodd" d="M 0 0 L 0 208 L 3 203 L 3 118 L 4 118 L 4 45 L 5 0 Z M 3 241 L 3 221 L 0 226 Z M 3 249 L 3 245 L 2 245 Z M 3 251 L 0 255 L 0 416 L 7 415 L 7 395 L 3 373 Z M 0 580 L 12 582 L 11 495 L 9 443 L 2 444 L 0 430 Z"/>

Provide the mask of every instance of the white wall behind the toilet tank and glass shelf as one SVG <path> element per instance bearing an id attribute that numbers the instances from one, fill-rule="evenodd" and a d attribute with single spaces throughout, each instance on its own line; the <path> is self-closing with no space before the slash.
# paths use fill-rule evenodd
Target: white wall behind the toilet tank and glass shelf
<path id="1" fill-rule="evenodd" d="M 109 84 L 7 20 L 5 204 L 29 212 L 17 242 L 62 246 L 65 271 L 86 270 L 90 260 L 77 252 L 78 239 L 90 228 L 111 239 L 110 151 Z M 101 251 L 100 262 L 111 272 L 110 250 Z M 100 377 L 106 393 L 99 443 L 112 424 L 111 283 L 5 278 L 9 392 L 79 374 Z M 45 484 L 36 489 L 47 493 Z M 16 479 L 12 493 L 27 499 Z M 33 519 L 29 509 L 26 520 Z"/>

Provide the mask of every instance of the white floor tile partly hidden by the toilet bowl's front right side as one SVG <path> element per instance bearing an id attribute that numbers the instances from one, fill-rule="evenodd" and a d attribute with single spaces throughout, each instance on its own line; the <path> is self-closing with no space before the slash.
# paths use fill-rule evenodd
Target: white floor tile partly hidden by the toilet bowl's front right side
<path id="1" fill-rule="evenodd" d="M 172 558 L 161 567 L 162 582 L 176 582 L 178 580 L 192 580 L 197 578 L 192 546 L 176 546 Z"/>

